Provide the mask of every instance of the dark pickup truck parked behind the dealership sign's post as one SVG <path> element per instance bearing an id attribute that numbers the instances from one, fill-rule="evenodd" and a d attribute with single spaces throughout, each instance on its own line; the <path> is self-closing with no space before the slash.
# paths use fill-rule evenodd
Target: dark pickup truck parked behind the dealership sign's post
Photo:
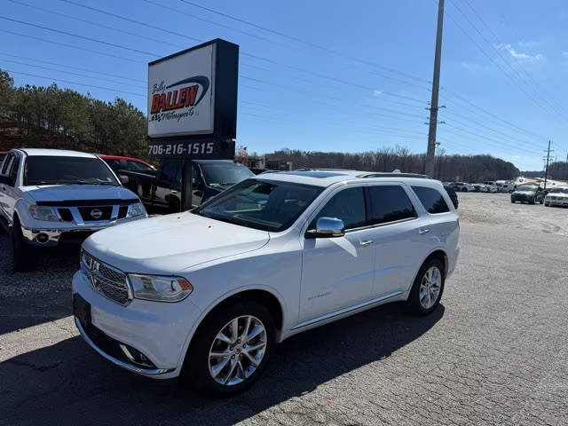
<path id="1" fill-rule="evenodd" d="M 182 161 L 164 159 L 158 170 L 115 170 L 122 185 L 138 194 L 146 209 L 161 209 L 169 213 L 181 209 Z M 192 207 L 222 193 L 254 173 L 230 160 L 193 160 Z"/>

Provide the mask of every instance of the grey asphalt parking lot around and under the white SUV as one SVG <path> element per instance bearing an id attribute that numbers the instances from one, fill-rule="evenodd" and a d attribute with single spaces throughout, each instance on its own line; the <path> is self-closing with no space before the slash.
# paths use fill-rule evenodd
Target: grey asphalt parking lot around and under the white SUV
<path id="1" fill-rule="evenodd" d="M 568 424 L 568 209 L 460 193 L 438 310 L 398 304 L 296 335 L 233 398 L 114 367 L 77 335 L 77 253 L 10 272 L 0 235 L 2 424 Z"/>

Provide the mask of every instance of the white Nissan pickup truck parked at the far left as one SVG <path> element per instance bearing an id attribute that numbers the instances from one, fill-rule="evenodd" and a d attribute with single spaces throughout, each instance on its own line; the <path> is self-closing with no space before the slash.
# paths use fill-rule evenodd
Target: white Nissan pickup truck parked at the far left
<path id="1" fill-rule="evenodd" d="M 95 155 L 12 149 L 0 169 L 0 231 L 11 236 L 14 270 L 33 269 L 39 248 L 144 217 L 138 196 Z"/>

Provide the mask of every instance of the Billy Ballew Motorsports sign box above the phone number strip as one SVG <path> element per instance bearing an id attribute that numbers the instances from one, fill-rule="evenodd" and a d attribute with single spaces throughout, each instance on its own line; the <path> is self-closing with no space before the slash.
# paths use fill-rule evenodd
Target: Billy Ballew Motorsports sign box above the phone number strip
<path id="1" fill-rule="evenodd" d="M 216 39 L 151 62 L 149 145 L 235 138 L 238 57 L 239 46 Z"/>

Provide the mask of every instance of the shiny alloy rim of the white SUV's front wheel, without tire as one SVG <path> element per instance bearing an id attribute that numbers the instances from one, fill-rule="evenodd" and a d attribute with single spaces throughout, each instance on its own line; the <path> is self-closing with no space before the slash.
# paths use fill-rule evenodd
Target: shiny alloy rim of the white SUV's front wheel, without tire
<path id="1" fill-rule="evenodd" d="M 209 349 L 209 373 L 226 386 L 242 383 L 252 375 L 264 358 L 266 329 L 251 315 L 227 322 Z"/>

